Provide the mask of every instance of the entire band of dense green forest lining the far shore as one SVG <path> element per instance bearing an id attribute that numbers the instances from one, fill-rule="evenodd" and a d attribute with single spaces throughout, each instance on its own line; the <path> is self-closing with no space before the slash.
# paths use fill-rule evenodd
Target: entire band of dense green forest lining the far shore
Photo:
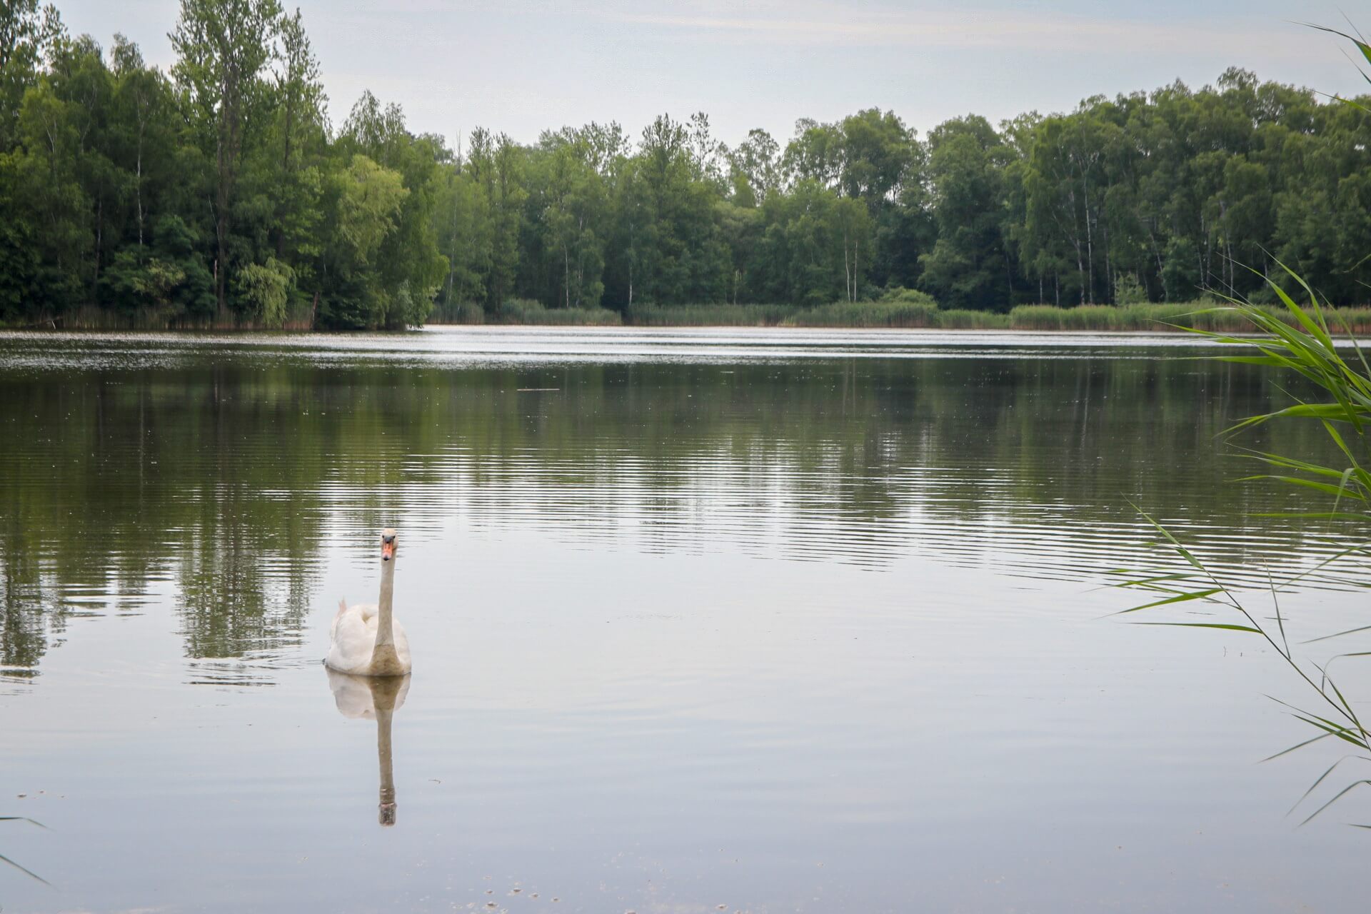
<path id="1" fill-rule="evenodd" d="M 946 308 L 1371 281 L 1366 114 L 1228 70 L 924 136 L 891 111 L 728 147 L 709 118 L 476 129 L 329 116 L 299 11 L 181 0 L 177 63 L 0 0 L 0 322 L 399 328 L 540 303 Z M 1350 269 L 1349 269 L 1350 267 Z M 912 295 L 912 293 L 905 293 Z"/>

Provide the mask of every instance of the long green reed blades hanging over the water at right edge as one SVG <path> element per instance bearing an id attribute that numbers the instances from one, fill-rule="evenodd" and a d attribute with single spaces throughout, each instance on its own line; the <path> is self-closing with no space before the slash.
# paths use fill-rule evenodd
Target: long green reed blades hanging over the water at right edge
<path id="1" fill-rule="evenodd" d="M 1371 59 L 1371 48 L 1367 48 L 1367 55 Z M 1271 758 L 1279 758 L 1327 739 L 1339 741 L 1344 748 L 1352 745 L 1357 750 L 1353 755 L 1341 758 L 1323 771 L 1291 807 L 1294 811 L 1316 796 L 1319 787 L 1344 762 L 1371 762 L 1371 719 L 1363 721 L 1357 711 L 1357 707 L 1364 706 L 1364 702 L 1349 700 L 1338 685 L 1338 680 L 1330 673 L 1330 665 L 1334 660 L 1371 659 L 1371 651 L 1342 651 L 1320 663 L 1311 659 L 1308 648 L 1302 645 L 1297 645 L 1300 647 L 1297 652 L 1286 636 L 1290 603 L 1287 592 L 1301 580 L 1315 574 L 1326 574 L 1327 569 L 1335 563 L 1350 563 L 1349 582 L 1353 586 L 1371 585 L 1371 562 L 1368 562 L 1371 559 L 1371 541 L 1368 541 L 1368 526 L 1371 526 L 1371 363 L 1363 355 L 1360 345 L 1348 348 L 1345 340 L 1335 338 L 1341 332 L 1350 336 L 1355 343 L 1355 332 L 1360 326 L 1356 319 L 1360 314 L 1328 308 L 1304 280 L 1294 273 L 1290 275 L 1308 295 L 1305 304 L 1297 303 L 1272 282 L 1271 288 L 1281 300 L 1282 310 L 1231 299 L 1226 306 L 1196 314 L 1190 330 L 1212 340 L 1248 348 L 1243 355 L 1220 356 L 1220 360 L 1263 366 L 1276 373 L 1298 374 L 1322 392 L 1323 402 L 1311 403 L 1291 397 L 1294 402 L 1290 406 L 1243 419 L 1231 432 L 1278 419 L 1313 421 L 1323 426 L 1346 466 L 1323 466 L 1300 455 L 1246 451 L 1246 456 L 1260 462 L 1268 470 L 1254 477 L 1246 477 L 1246 480 L 1275 480 L 1297 485 L 1311 496 L 1328 499 L 1331 504 L 1327 510 L 1300 511 L 1296 515 L 1338 523 L 1337 543 L 1344 548 L 1289 580 L 1271 581 L 1270 607 L 1257 608 L 1253 606 L 1254 597 L 1237 593 L 1235 588 L 1224 582 L 1179 539 L 1143 514 L 1163 537 L 1161 545 L 1179 562 L 1176 562 L 1175 569 L 1161 567 L 1142 574 L 1137 571 L 1120 571 L 1119 574 L 1127 578 L 1120 584 L 1121 586 L 1142 589 L 1154 597 L 1142 606 L 1126 610 L 1126 613 L 1143 610 L 1180 610 L 1185 613 L 1182 618 L 1172 617 L 1158 622 L 1146 622 L 1146 625 L 1222 629 L 1253 636 L 1274 650 L 1293 670 L 1297 681 L 1305 688 L 1308 703 L 1296 706 L 1281 702 L 1281 704 L 1296 719 L 1312 728 L 1315 736 L 1276 752 Z M 1242 333 L 1250 328 L 1259 336 L 1231 336 L 1228 332 L 1209 329 L 1227 326 L 1231 322 L 1245 325 Z M 1200 613 L 1198 607 L 1216 608 L 1217 614 Z M 1371 630 L 1371 625 L 1357 626 L 1304 641 L 1304 645 L 1368 630 Z M 1313 808 L 1301 824 L 1312 821 L 1349 792 L 1364 785 L 1371 785 L 1371 780 L 1363 777 L 1346 784 Z M 1323 796 L 1327 793 L 1311 800 L 1311 803 L 1316 803 Z M 1371 828 L 1371 824 L 1359 826 Z"/>

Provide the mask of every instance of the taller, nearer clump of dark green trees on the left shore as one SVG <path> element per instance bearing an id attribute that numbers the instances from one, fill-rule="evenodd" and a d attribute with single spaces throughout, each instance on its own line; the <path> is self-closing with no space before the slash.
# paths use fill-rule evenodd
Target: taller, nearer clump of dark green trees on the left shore
<path id="1" fill-rule="evenodd" d="M 106 53 L 19 7 L 33 47 L 0 86 L 0 319 L 424 322 L 447 274 L 448 153 L 370 95 L 330 140 L 299 12 L 182 0 L 167 77 L 122 37 Z"/>

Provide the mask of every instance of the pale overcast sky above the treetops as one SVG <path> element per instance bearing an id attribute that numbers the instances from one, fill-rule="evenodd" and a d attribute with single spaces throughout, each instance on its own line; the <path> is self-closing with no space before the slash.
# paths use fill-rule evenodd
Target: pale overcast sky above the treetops
<path id="1" fill-rule="evenodd" d="M 167 67 L 178 0 L 58 0 L 74 33 L 122 32 Z M 1344 44 L 1293 25 L 1342 22 L 1324 0 L 298 0 L 341 123 L 363 89 L 415 132 L 540 130 L 706 111 L 733 144 L 784 143 L 797 118 L 893 108 L 920 133 L 1090 95 L 1212 82 L 1228 66 L 1324 92 L 1364 88 Z M 1371 23 L 1367 23 L 1371 29 Z"/>

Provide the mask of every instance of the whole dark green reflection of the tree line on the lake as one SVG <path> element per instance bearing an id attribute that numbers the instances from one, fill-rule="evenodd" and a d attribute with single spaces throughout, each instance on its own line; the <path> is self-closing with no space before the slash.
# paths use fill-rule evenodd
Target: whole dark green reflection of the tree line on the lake
<path id="1" fill-rule="evenodd" d="M 953 545 L 969 554 L 997 548 L 991 529 L 1131 523 L 1126 496 L 1163 518 L 1212 523 L 1224 543 L 1274 497 L 1228 484 L 1233 463 L 1197 459 L 1237 417 L 1270 408 L 1271 391 L 1243 366 L 452 371 L 214 358 L 0 373 L 0 429 L 23 443 L 0 454 L 0 665 L 34 666 L 64 619 L 92 608 L 86 599 L 159 588 L 175 593 L 189 656 L 289 645 L 324 526 L 340 517 L 344 528 L 381 526 L 462 506 L 472 523 L 577 536 L 621 537 L 632 525 L 640 548 L 699 543 L 721 526 L 753 539 L 768 525 L 783 554 L 851 559 L 905 551 L 914 515 L 960 532 Z M 558 389 L 518 392 L 544 386 Z M 1261 434 L 1308 439 L 1272 449 L 1324 447 L 1298 426 Z M 1231 558 L 1242 543 L 1233 537 Z"/>

